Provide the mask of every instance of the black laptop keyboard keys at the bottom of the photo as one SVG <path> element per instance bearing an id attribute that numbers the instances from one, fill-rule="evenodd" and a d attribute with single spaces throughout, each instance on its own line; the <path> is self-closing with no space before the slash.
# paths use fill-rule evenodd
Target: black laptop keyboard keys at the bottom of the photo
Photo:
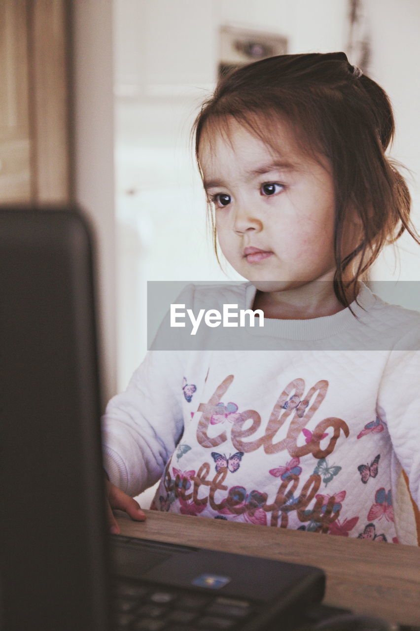
<path id="1" fill-rule="evenodd" d="M 112 598 L 117 631 L 235 631 L 259 610 L 246 599 L 121 578 L 114 584 Z"/>

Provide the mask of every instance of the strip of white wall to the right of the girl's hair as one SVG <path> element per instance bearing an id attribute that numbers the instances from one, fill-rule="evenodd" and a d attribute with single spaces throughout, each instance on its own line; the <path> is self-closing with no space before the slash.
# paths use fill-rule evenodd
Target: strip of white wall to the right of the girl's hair
<path id="1" fill-rule="evenodd" d="M 412 218 L 420 230 L 420 2 L 369 0 L 372 59 L 370 76 L 385 88 L 394 105 L 396 135 L 390 155 L 409 168 Z M 407 235 L 397 259 L 389 247 L 372 270 L 374 280 L 420 281 L 419 246 Z M 420 305 L 419 305 L 420 307 Z"/>

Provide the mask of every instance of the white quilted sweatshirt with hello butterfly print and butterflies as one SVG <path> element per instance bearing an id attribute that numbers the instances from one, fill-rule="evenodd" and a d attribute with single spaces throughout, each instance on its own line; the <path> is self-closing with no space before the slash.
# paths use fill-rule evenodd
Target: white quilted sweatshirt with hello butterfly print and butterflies
<path id="1" fill-rule="evenodd" d="M 189 285 L 177 302 L 254 297 Z M 401 474 L 419 504 L 420 314 L 365 285 L 358 303 L 357 318 L 264 319 L 255 350 L 149 351 L 103 417 L 110 480 L 134 496 L 161 479 L 158 510 L 417 545 Z"/>

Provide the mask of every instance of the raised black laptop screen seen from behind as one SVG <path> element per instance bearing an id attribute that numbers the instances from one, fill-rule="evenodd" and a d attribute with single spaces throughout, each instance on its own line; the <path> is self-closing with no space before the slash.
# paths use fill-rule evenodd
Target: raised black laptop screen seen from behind
<path id="1" fill-rule="evenodd" d="M 0 209 L 8 630 L 108 628 L 91 256 L 76 209 Z"/>

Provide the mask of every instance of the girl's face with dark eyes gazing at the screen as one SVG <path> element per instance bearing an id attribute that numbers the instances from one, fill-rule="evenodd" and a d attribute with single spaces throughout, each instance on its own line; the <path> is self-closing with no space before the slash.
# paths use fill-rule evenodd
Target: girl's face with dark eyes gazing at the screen
<path id="1" fill-rule="evenodd" d="M 228 138 L 204 131 L 199 151 L 226 259 L 263 292 L 332 280 L 334 184 L 329 165 L 303 154 L 280 121 L 273 129 L 276 154 L 234 119 L 228 130 Z"/>

